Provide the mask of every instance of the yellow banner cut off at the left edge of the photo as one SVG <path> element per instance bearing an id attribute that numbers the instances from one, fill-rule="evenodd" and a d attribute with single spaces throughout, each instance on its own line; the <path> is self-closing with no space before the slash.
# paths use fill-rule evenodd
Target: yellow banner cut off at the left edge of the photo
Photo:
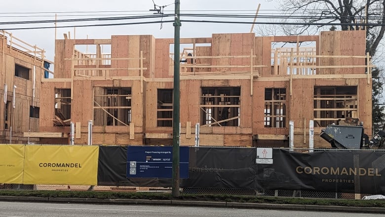
<path id="1" fill-rule="evenodd" d="M 0 144 L 0 183 L 23 184 L 24 145 Z"/>

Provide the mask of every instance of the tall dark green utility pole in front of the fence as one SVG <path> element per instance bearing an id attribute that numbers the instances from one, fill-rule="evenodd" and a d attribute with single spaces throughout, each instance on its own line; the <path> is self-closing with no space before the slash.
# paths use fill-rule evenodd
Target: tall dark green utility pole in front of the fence
<path id="1" fill-rule="evenodd" d="M 180 31 L 181 22 L 180 0 L 175 0 L 175 21 L 174 21 L 174 100 L 173 100 L 173 121 L 172 121 L 172 196 L 179 196 L 179 137 L 180 137 L 180 82 L 179 82 L 179 53 L 180 53 Z"/>

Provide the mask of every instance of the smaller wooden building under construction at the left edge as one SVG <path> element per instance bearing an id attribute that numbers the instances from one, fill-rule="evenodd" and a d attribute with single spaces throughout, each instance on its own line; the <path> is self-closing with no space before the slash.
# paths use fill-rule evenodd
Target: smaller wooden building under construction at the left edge
<path id="1" fill-rule="evenodd" d="M 39 143 L 23 132 L 39 132 L 41 79 L 53 63 L 44 54 L 44 49 L 0 31 L 1 143 Z"/>

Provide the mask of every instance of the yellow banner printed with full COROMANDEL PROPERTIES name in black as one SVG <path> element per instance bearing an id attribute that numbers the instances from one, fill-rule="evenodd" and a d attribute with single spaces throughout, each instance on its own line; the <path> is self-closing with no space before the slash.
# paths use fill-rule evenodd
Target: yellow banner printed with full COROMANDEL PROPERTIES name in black
<path id="1" fill-rule="evenodd" d="M 24 184 L 96 185 L 99 146 L 27 145 Z"/>

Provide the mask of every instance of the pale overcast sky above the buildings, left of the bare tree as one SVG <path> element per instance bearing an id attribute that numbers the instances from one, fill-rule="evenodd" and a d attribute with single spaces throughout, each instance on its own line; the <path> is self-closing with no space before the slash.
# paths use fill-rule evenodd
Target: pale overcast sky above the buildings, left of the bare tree
<path id="1" fill-rule="evenodd" d="M 174 0 L 154 0 L 155 4 L 163 6 L 165 13 L 173 13 Z M 250 10 L 241 13 L 255 14 L 258 3 L 261 3 L 260 14 L 262 10 L 275 9 L 274 2 L 271 0 L 181 0 L 181 13 L 240 13 L 237 11 L 199 11 L 199 10 Z M 118 16 L 127 16 L 131 14 L 148 14 L 151 15 L 149 9 L 154 8 L 153 0 L 14 0 L 2 1 L 0 7 L 0 22 L 11 21 L 30 21 L 30 20 L 54 20 L 55 13 L 58 19 L 77 19 L 91 17 L 109 17 L 111 14 L 119 14 Z M 192 10 L 192 11 L 188 11 Z M 71 15 L 87 15 L 87 16 L 64 16 L 69 13 L 61 12 L 79 12 L 79 11 L 135 11 L 135 12 L 104 12 L 104 13 L 73 13 Z M 44 14 L 9 14 L 20 12 L 45 12 Z M 264 13 L 268 13 L 264 12 Z M 44 15 L 43 17 L 33 17 Z M 15 17 L 21 16 L 21 17 Z M 172 19 L 171 17 L 163 18 L 163 20 Z M 186 18 L 187 19 L 187 18 Z M 188 18 L 199 19 L 199 18 Z M 160 19 L 155 19 L 160 20 Z M 149 20 L 137 20 L 149 21 Z M 252 22 L 252 18 L 240 21 Z M 109 21 L 113 22 L 132 22 L 130 20 Z M 83 25 L 83 24 L 99 24 L 100 21 L 92 21 L 87 23 L 58 23 L 59 26 Z M 47 24 L 28 24 L 28 25 L 0 25 L 0 29 L 5 28 L 22 28 L 28 26 L 52 26 L 54 23 Z M 216 24 L 216 23 L 182 23 L 181 37 L 211 37 L 213 33 L 245 33 L 250 32 L 251 24 Z M 47 52 L 48 59 L 53 59 L 54 55 L 54 29 L 32 29 L 32 30 L 7 30 L 13 35 L 27 43 L 36 44 L 44 48 Z M 63 33 L 71 32 L 71 38 L 74 37 L 74 28 L 58 28 L 57 39 L 63 39 Z M 172 23 L 163 23 L 162 29 L 160 24 L 144 24 L 144 25 L 123 25 L 110 27 L 77 27 L 76 38 L 85 39 L 109 39 L 111 35 L 153 35 L 155 38 L 173 38 L 174 27 Z"/>

